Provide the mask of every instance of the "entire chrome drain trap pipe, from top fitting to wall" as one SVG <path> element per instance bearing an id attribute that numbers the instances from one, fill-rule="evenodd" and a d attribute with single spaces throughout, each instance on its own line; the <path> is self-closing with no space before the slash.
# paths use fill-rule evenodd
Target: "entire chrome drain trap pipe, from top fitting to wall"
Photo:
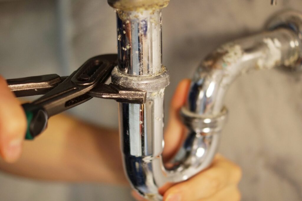
<path id="1" fill-rule="evenodd" d="M 130 184 L 149 200 L 160 191 L 207 168 L 226 120 L 223 96 L 232 81 L 252 69 L 302 62 L 302 16 L 286 12 L 271 20 L 268 31 L 235 40 L 212 52 L 194 74 L 181 116 L 187 139 L 172 160 L 162 162 L 163 100 L 169 72 L 162 65 L 161 9 L 169 0 L 108 0 L 117 13 L 118 67 L 112 82 L 147 91 L 145 104 L 119 104 L 124 169 Z"/>

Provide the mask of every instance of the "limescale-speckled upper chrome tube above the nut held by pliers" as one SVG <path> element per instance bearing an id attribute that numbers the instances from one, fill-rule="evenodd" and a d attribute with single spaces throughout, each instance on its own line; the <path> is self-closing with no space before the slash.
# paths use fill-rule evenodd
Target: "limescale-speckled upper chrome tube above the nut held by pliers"
<path id="1" fill-rule="evenodd" d="M 162 68 L 161 10 L 117 10 L 119 67 L 129 75 L 150 76 Z"/>

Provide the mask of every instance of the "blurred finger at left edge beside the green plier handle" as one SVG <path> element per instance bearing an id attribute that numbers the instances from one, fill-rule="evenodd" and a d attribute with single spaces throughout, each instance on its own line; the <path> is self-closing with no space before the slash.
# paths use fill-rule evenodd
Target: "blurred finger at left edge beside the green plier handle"
<path id="1" fill-rule="evenodd" d="M 26 118 L 20 103 L 0 76 L 0 154 L 7 162 L 21 154 Z"/>

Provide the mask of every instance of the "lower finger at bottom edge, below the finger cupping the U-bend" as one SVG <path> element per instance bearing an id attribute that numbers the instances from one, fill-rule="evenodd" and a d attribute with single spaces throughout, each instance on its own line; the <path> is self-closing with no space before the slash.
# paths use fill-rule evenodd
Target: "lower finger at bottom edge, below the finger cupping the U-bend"
<path id="1" fill-rule="evenodd" d="M 223 188 L 213 196 L 199 201 L 239 201 L 241 199 L 241 193 L 236 185 L 231 185 Z"/>

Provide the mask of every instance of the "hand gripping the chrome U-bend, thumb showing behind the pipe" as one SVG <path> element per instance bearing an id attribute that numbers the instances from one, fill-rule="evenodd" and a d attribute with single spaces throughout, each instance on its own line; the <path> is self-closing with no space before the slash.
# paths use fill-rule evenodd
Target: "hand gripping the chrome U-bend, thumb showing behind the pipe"
<path id="1" fill-rule="evenodd" d="M 179 110 L 185 104 L 190 80 L 179 83 L 170 106 L 169 124 L 165 131 L 164 161 L 167 162 L 175 154 L 184 138 L 185 127 L 179 119 Z M 241 179 L 238 165 L 217 154 L 212 165 L 169 189 L 160 192 L 164 201 L 216 201 L 240 200 L 238 183 Z M 139 201 L 146 201 L 136 191 L 133 196 Z"/>

